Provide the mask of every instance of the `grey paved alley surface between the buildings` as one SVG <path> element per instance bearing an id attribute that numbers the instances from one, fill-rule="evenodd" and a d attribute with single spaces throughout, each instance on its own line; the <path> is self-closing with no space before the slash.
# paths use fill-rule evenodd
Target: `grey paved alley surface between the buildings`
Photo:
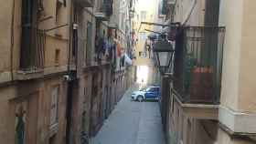
<path id="1" fill-rule="evenodd" d="M 165 144 L 157 102 L 131 101 L 131 87 L 91 144 Z"/>

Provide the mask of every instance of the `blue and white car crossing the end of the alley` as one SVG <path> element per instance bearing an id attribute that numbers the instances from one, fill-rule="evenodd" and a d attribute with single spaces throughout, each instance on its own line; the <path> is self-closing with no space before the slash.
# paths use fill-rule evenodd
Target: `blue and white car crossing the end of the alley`
<path id="1" fill-rule="evenodd" d="M 132 93 L 132 100 L 142 102 L 144 100 L 159 100 L 160 99 L 160 87 L 152 86 L 146 87 Z"/>

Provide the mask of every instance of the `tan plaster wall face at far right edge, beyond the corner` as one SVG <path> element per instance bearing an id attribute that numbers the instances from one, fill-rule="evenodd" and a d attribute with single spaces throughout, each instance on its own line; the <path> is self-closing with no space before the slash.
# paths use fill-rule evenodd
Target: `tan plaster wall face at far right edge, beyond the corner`
<path id="1" fill-rule="evenodd" d="M 256 113 L 256 2 L 243 1 L 240 44 L 239 111 Z"/>

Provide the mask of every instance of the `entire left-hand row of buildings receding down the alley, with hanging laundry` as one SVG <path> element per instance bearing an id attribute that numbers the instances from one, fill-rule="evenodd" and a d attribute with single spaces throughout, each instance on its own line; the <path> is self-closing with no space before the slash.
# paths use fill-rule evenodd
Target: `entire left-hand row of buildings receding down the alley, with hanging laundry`
<path id="1" fill-rule="evenodd" d="M 101 129 L 133 84 L 127 62 L 133 3 L 125 1 L 126 19 L 118 21 L 113 17 L 121 16 L 118 2 L 5 2 L 0 16 L 3 143 L 80 144 Z"/>

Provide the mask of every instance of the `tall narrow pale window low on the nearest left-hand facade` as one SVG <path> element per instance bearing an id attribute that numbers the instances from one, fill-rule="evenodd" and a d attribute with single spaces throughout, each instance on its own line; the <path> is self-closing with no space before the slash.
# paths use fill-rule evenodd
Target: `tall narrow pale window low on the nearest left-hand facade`
<path id="1" fill-rule="evenodd" d="M 51 90 L 50 125 L 58 123 L 59 86 Z"/>

